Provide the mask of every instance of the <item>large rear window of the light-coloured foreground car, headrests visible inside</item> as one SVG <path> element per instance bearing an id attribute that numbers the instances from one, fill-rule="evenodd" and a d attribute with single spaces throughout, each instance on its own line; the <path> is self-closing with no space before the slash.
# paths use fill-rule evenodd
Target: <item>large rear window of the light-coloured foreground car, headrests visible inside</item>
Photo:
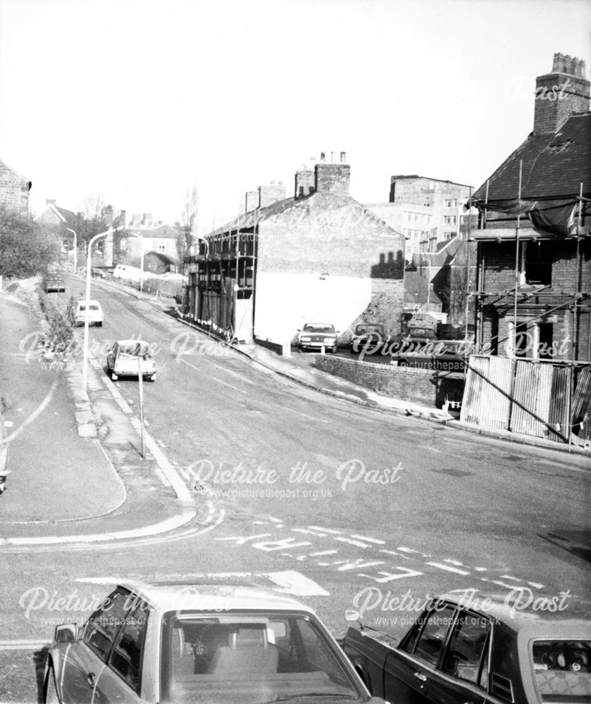
<path id="1" fill-rule="evenodd" d="M 190 617 L 168 612 L 163 624 L 165 702 L 363 698 L 335 646 L 304 615 Z"/>

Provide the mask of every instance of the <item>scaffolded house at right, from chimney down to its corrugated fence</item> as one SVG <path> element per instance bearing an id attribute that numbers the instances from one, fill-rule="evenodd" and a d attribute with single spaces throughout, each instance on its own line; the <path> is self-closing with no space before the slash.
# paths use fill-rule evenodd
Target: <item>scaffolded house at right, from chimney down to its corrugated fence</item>
<path id="1" fill-rule="evenodd" d="M 583 61 L 554 54 L 533 132 L 471 199 L 476 340 L 489 354 L 471 360 L 465 422 L 591 440 L 590 87 Z"/>

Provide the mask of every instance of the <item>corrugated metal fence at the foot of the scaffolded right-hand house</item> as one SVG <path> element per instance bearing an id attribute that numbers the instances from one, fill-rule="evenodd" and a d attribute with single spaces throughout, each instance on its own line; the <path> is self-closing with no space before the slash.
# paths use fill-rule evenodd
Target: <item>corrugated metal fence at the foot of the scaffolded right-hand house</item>
<path id="1" fill-rule="evenodd" d="M 473 355 L 460 420 L 581 445 L 590 403 L 590 365 Z"/>

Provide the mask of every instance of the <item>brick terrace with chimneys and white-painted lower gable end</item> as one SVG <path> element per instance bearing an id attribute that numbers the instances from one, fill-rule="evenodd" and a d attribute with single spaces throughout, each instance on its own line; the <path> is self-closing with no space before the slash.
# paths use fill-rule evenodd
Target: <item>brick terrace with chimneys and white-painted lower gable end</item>
<path id="1" fill-rule="evenodd" d="M 237 339 L 287 346 L 305 322 L 399 332 L 404 239 L 349 195 L 350 167 L 321 158 L 282 184 L 247 194 L 247 212 L 188 258 L 185 313 Z"/>

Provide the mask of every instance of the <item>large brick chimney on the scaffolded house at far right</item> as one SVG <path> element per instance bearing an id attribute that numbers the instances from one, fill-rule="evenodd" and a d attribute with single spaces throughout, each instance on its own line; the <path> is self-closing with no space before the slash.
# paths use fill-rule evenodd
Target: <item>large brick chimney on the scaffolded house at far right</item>
<path id="1" fill-rule="evenodd" d="M 554 54 L 552 73 L 535 80 L 534 134 L 554 134 L 573 113 L 589 111 L 590 88 L 585 61 Z"/>

